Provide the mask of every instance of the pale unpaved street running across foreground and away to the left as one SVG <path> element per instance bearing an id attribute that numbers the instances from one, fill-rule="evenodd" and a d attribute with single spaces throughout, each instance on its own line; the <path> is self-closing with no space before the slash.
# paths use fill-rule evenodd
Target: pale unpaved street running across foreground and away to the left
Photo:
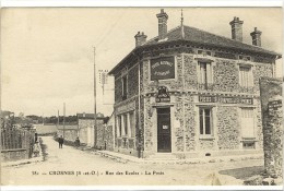
<path id="1" fill-rule="evenodd" d="M 242 184 L 263 170 L 262 159 L 208 164 L 118 163 L 43 138 L 48 157 L 40 163 L 2 168 L 4 186 L 204 186 L 213 174 L 221 184 Z"/>

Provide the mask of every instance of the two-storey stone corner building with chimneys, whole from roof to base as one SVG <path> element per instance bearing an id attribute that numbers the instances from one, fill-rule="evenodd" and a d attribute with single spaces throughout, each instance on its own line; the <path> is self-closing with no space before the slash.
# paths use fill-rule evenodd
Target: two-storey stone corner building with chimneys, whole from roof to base
<path id="1" fill-rule="evenodd" d="M 115 76 L 115 151 L 142 157 L 202 157 L 262 152 L 259 79 L 274 76 L 280 53 L 244 44 L 238 17 L 232 39 L 181 23 L 158 36 L 138 33 Z M 228 25 L 228 27 L 229 27 Z"/>

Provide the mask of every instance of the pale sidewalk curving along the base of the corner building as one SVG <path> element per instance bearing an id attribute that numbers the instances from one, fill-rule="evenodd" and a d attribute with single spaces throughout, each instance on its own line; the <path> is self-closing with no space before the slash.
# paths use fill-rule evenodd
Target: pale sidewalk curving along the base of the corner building
<path id="1" fill-rule="evenodd" d="M 222 162 L 239 162 L 239 160 L 248 160 L 248 159 L 261 159 L 263 158 L 263 154 L 251 154 L 251 155 L 232 155 L 232 156 L 218 156 L 218 157 L 200 157 L 200 158 L 186 158 L 186 159 L 170 159 L 167 158 L 138 158 L 135 156 L 125 155 L 110 151 L 96 151 L 93 153 L 97 153 L 103 157 L 111 158 L 120 163 L 142 163 L 142 164 L 205 164 L 205 163 L 222 163 Z"/>

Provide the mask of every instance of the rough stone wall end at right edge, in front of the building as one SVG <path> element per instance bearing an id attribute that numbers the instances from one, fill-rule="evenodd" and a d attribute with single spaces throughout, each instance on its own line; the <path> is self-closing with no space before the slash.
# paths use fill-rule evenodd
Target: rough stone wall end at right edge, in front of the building
<path id="1" fill-rule="evenodd" d="M 282 80 L 261 77 L 264 169 L 269 176 L 283 176 Z"/>

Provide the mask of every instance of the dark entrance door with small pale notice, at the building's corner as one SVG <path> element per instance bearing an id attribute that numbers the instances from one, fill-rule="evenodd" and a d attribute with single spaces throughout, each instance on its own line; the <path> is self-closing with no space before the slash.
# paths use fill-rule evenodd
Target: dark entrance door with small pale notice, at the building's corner
<path id="1" fill-rule="evenodd" d="M 169 107 L 157 108 L 157 152 L 171 152 Z"/>

